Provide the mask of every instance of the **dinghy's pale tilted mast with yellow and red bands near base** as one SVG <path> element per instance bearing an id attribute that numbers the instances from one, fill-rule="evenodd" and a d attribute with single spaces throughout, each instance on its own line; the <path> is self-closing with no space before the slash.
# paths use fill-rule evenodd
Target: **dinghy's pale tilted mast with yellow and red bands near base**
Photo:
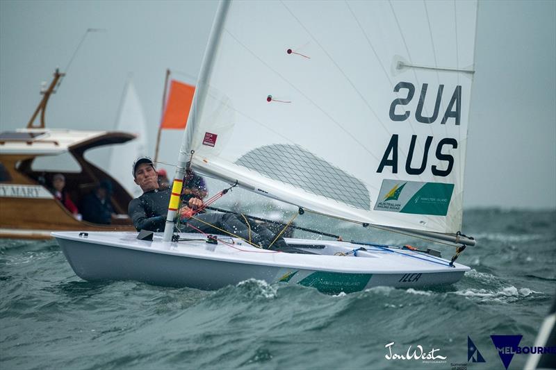
<path id="1" fill-rule="evenodd" d="M 224 22 L 229 10 L 230 0 L 221 0 L 218 4 L 218 10 L 213 23 L 211 35 L 208 38 L 208 45 L 206 47 L 205 55 L 203 58 L 203 65 L 201 72 L 199 72 L 199 81 L 197 82 L 197 90 L 193 97 L 193 104 L 191 105 L 190 114 L 186 129 L 183 131 L 183 139 L 181 140 L 181 148 L 179 149 L 178 163 L 176 172 L 174 174 L 174 185 L 172 186 L 172 196 L 168 204 L 168 213 L 166 216 L 166 224 L 164 228 L 164 241 L 170 242 L 174 233 L 174 217 L 176 216 L 179 208 L 179 201 L 181 195 L 181 187 L 183 186 L 183 176 L 186 174 L 186 164 L 190 158 L 191 142 L 193 140 L 193 133 L 195 126 L 197 126 L 197 117 L 200 117 L 200 110 L 204 105 L 204 99 L 208 90 L 208 81 L 210 80 L 216 47 L 222 37 L 222 30 L 224 29 Z"/>

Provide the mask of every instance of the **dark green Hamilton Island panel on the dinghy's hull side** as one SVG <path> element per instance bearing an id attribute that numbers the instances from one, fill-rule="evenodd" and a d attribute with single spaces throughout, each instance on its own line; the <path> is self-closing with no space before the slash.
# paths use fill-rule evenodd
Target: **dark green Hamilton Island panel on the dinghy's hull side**
<path id="1" fill-rule="evenodd" d="M 300 281 L 306 287 L 315 287 L 320 292 L 338 294 L 352 293 L 365 289 L 373 274 L 344 274 L 341 272 L 316 271 Z"/>

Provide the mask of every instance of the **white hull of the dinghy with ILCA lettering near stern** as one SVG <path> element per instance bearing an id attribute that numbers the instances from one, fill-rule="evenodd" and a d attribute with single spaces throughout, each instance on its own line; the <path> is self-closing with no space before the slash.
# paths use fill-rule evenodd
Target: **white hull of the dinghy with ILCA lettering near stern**
<path id="1" fill-rule="evenodd" d="M 321 292 L 357 292 L 369 287 L 424 287 L 457 282 L 465 271 L 462 264 L 424 253 L 363 246 L 349 242 L 286 239 L 288 244 L 318 254 L 264 251 L 222 237 L 233 246 L 204 241 L 163 242 L 155 234 L 152 242 L 136 239 L 137 233 L 52 233 L 75 273 L 90 281 L 136 280 L 154 285 L 220 289 L 254 278 L 268 283 L 313 286 Z M 201 239 L 200 234 L 180 234 Z M 346 256 L 337 252 L 350 252 Z"/>

